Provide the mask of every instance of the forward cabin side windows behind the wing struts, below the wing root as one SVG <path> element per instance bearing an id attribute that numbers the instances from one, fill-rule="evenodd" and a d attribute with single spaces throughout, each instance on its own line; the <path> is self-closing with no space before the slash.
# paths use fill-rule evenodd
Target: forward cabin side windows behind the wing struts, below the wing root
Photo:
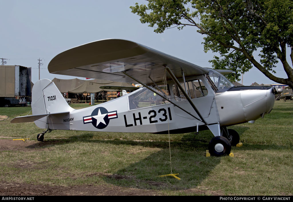
<path id="1" fill-rule="evenodd" d="M 183 87 L 183 89 L 185 89 L 184 83 L 180 83 L 180 85 Z M 176 101 L 181 101 L 185 99 L 185 96 L 176 84 L 173 85 L 172 90 Z M 186 82 L 186 90 L 191 99 L 204 97 L 208 94 L 207 88 L 200 79 Z"/>

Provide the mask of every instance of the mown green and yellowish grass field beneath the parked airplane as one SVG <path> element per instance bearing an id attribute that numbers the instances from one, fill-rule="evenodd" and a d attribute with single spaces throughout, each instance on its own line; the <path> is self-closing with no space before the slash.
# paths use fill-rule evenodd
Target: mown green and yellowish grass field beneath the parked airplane
<path id="1" fill-rule="evenodd" d="M 172 171 L 180 181 L 157 177 L 170 173 L 168 135 L 59 130 L 38 142 L 42 129 L 34 123 L 10 123 L 30 110 L 0 108 L 0 115 L 9 116 L 0 121 L 0 140 L 6 144 L 0 149 L 0 184 L 116 188 L 119 195 L 127 190 L 138 190 L 138 195 L 139 190 L 145 195 L 293 194 L 293 101 L 276 101 L 272 112 L 254 124 L 229 127 L 243 143 L 232 147 L 234 158 L 205 157 L 213 137 L 209 131 L 172 134 Z M 10 147 L 16 144 L 13 138 L 22 137 L 30 140 Z"/>

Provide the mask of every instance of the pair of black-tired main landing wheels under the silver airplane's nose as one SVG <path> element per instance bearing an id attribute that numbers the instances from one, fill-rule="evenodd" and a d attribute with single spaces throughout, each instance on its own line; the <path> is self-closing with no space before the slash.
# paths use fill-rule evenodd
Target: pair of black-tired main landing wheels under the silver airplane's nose
<path id="1" fill-rule="evenodd" d="M 229 155 L 231 146 L 239 143 L 239 134 L 233 129 L 221 128 L 221 136 L 216 136 L 209 142 L 209 153 L 212 156 Z"/>

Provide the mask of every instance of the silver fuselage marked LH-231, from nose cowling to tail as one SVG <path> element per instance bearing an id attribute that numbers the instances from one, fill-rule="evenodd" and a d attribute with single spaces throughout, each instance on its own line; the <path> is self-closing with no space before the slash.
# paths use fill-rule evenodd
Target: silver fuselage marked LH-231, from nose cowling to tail
<path id="1" fill-rule="evenodd" d="M 176 96 L 176 87 L 172 82 L 168 83 L 168 99 L 189 113 L 167 100 L 159 101 L 159 96 L 153 96 L 154 93 L 141 88 L 96 106 L 79 110 L 69 107 L 69 113 L 66 115 L 51 115 L 47 123 L 45 118 L 42 122 L 35 123 L 41 128 L 50 129 L 184 133 L 208 129 L 207 125 L 219 124 L 224 127 L 255 121 L 269 113 L 274 105 L 272 87 L 232 87 L 224 92 L 214 92 L 203 75 L 190 80 L 195 79 L 201 82 L 201 87 L 204 86 L 202 88 L 205 90 L 201 90 L 202 95 L 199 94 L 197 97 L 194 94 L 191 100 L 207 124 L 200 120 L 199 115 L 184 97 Z M 190 86 L 188 88 L 190 96 L 193 97 L 194 92 L 190 90 Z M 57 106 L 58 100 L 50 99 L 49 96 L 45 99 L 45 105 L 49 105 L 48 103 Z"/>

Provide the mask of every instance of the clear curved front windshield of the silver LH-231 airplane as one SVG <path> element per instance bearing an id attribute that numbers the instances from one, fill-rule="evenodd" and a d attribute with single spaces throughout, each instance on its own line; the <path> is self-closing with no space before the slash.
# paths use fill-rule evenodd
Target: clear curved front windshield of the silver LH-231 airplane
<path id="1" fill-rule="evenodd" d="M 220 74 L 216 70 L 209 70 L 209 77 L 218 88 L 218 92 L 224 92 L 229 88 L 235 86 L 224 75 Z"/>

